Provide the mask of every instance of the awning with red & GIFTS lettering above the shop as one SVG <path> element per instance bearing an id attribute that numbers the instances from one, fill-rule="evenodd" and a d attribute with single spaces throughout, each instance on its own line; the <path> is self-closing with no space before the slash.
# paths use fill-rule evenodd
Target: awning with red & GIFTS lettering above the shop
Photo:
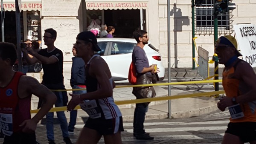
<path id="1" fill-rule="evenodd" d="M 21 6 L 23 11 L 41 11 L 42 0 L 21 0 Z M 15 11 L 15 0 L 3 0 L 3 8 L 5 11 Z"/>

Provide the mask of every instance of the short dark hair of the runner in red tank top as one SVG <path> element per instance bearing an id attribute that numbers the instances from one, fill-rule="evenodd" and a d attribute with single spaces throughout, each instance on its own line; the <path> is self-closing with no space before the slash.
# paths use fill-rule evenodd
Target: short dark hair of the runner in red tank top
<path id="1" fill-rule="evenodd" d="M 11 66 L 14 65 L 17 60 L 16 46 L 12 43 L 0 42 L 0 58 L 11 60 Z"/>

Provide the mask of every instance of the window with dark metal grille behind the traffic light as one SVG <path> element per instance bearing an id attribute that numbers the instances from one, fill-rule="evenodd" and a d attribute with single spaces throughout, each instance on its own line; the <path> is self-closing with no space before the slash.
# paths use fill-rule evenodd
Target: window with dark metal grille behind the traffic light
<path id="1" fill-rule="evenodd" d="M 213 0 L 204 0 L 195 6 L 195 32 L 207 34 L 214 32 Z M 218 34 L 231 34 L 233 32 L 232 11 L 218 14 Z"/>

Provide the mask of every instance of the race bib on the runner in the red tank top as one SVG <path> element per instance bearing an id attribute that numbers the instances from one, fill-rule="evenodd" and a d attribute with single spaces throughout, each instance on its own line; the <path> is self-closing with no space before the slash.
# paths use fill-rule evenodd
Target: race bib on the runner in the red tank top
<path id="1" fill-rule="evenodd" d="M 12 131 L 12 114 L 0 113 L 0 126 L 4 135 L 11 136 Z"/>

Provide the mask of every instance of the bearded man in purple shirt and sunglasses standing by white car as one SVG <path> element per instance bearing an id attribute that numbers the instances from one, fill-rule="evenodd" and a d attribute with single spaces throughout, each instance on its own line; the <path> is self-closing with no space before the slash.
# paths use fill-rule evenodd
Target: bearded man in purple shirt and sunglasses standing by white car
<path id="1" fill-rule="evenodd" d="M 137 45 L 134 47 L 132 52 L 132 61 L 136 67 L 136 84 L 152 84 L 153 76 L 151 73 L 154 73 L 154 66 L 149 66 L 147 55 L 144 51 L 144 46 L 148 44 L 148 34 L 144 30 L 136 30 L 134 32 L 134 38 L 137 41 Z M 143 87 L 133 87 L 132 93 L 136 96 L 137 99 L 140 98 L 152 98 L 156 95 L 154 88 L 152 86 L 143 86 Z M 151 140 L 154 137 L 151 137 L 149 133 L 144 130 L 144 121 L 145 115 L 148 111 L 149 103 L 140 103 L 136 104 L 134 110 L 134 136 L 136 139 Z"/>

